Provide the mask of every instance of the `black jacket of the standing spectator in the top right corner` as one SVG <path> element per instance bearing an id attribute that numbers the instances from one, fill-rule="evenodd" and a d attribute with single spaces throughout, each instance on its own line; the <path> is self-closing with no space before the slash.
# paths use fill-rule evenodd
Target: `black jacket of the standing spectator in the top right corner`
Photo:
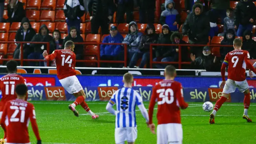
<path id="1" fill-rule="evenodd" d="M 247 25 L 252 24 L 249 22 L 249 20 L 252 18 L 254 21 L 256 14 L 256 7 L 254 3 L 251 0 L 248 0 L 248 2 L 244 2 L 244 0 L 240 0 L 238 4 L 236 5 L 235 9 L 235 25 L 239 26 L 239 24 Z"/>

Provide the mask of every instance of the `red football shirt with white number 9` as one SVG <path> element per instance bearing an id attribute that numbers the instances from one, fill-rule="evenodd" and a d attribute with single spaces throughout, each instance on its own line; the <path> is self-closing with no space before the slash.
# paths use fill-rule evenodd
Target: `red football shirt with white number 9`
<path id="1" fill-rule="evenodd" d="M 234 81 L 246 80 L 246 61 L 250 59 L 250 54 L 246 50 L 233 50 L 229 52 L 224 60 L 228 64 L 228 79 Z"/>

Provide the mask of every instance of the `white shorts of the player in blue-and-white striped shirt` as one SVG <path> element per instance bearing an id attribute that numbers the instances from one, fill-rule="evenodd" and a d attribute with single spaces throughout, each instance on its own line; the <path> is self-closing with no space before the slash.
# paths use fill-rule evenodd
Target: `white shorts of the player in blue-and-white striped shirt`
<path id="1" fill-rule="evenodd" d="M 126 140 L 127 142 L 135 142 L 135 140 L 137 139 L 137 132 L 137 127 L 116 128 L 116 144 L 124 144 Z"/>

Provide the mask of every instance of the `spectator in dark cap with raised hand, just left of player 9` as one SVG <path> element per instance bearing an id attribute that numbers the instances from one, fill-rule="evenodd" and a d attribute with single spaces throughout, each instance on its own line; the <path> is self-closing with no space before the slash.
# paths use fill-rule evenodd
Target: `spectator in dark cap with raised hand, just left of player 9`
<path id="1" fill-rule="evenodd" d="M 205 46 L 203 48 L 202 53 L 203 53 L 203 56 L 200 56 L 200 57 L 196 57 L 193 54 L 190 55 L 190 58 L 192 60 L 191 69 L 206 70 L 210 72 L 219 72 L 221 67 L 221 62 L 218 60 L 216 56 L 212 54 L 210 47 Z"/>

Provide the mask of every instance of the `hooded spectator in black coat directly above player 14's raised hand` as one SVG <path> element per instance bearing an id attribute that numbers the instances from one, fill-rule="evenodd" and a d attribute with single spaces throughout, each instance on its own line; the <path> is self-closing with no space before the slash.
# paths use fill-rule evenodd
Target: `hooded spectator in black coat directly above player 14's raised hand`
<path id="1" fill-rule="evenodd" d="M 34 35 L 31 42 L 49 42 L 50 43 L 50 54 L 54 51 L 54 42 L 52 36 L 49 35 L 49 30 L 45 24 L 43 24 L 40 29 L 39 33 Z M 34 48 L 34 52 L 28 55 L 28 59 L 44 59 L 42 53 L 44 50 L 47 50 L 46 44 L 30 44 L 32 48 Z M 37 62 L 29 62 L 30 66 L 37 66 Z M 44 66 L 44 62 L 39 62 L 39 66 Z"/>

